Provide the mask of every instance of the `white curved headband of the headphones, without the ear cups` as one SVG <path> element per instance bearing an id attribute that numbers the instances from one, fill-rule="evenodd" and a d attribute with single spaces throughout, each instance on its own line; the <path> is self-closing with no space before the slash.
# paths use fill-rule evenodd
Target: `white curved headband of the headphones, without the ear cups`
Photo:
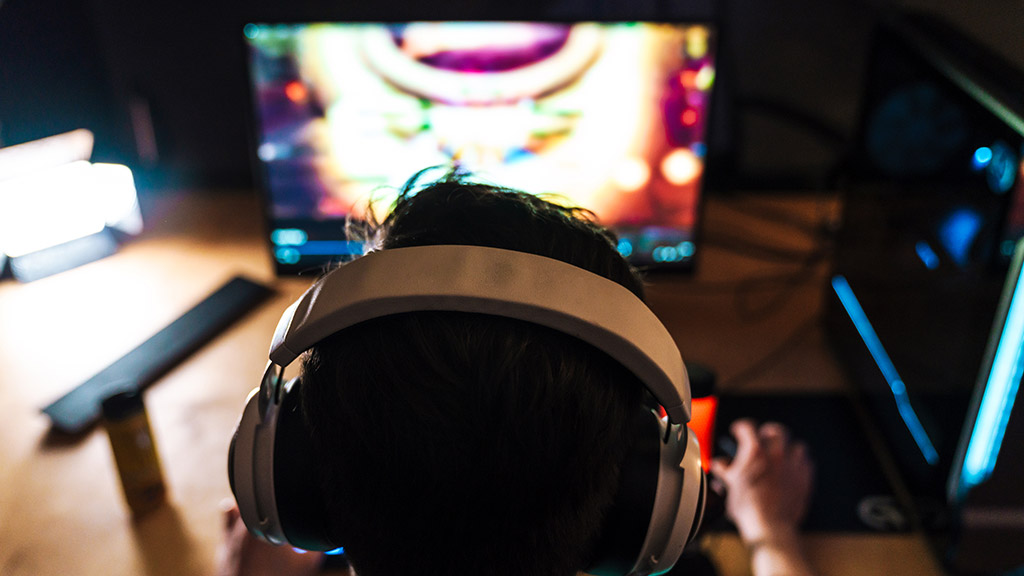
<path id="1" fill-rule="evenodd" d="M 499 248 L 393 248 L 339 266 L 282 316 L 270 361 L 288 366 L 339 330 L 426 311 L 503 316 L 573 335 L 636 374 L 670 421 L 690 419 L 690 386 L 679 348 L 640 298 L 561 260 Z"/>

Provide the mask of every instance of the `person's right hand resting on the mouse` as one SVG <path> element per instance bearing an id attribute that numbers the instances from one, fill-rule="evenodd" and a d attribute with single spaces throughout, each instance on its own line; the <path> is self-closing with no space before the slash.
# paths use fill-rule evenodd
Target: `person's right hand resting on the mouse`
<path id="1" fill-rule="evenodd" d="M 741 419 L 732 461 L 716 458 L 711 470 L 728 492 L 725 510 L 748 546 L 793 541 L 807 512 L 814 477 L 804 443 L 777 422 Z"/>

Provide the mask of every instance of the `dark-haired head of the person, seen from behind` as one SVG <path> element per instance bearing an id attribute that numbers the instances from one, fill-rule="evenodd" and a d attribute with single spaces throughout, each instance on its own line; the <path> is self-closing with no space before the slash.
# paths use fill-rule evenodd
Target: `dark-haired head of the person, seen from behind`
<path id="1" fill-rule="evenodd" d="M 455 174 L 415 178 L 380 249 L 530 252 L 643 286 L 589 213 Z M 465 313 L 379 318 L 322 340 L 301 406 L 322 485 L 361 576 L 569 575 L 595 552 L 643 385 L 590 344 Z"/>

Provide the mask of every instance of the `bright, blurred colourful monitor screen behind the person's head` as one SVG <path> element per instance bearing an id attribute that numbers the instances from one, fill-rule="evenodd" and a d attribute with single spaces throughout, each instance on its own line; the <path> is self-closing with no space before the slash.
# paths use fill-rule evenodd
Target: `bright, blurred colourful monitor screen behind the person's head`
<path id="1" fill-rule="evenodd" d="M 349 218 L 454 165 L 592 210 L 638 265 L 692 265 L 711 26 L 250 24 L 245 38 L 280 274 L 362 253 Z"/>

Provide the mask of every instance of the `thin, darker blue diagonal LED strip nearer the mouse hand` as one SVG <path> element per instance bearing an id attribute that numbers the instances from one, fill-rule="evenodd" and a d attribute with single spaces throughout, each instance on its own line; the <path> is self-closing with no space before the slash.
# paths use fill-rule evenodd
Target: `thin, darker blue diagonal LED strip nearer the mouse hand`
<path id="1" fill-rule="evenodd" d="M 885 346 L 882 345 L 882 340 L 879 339 L 879 335 L 874 332 L 870 321 L 867 320 L 867 315 L 864 314 L 864 308 L 860 306 L 860 301 L 857 300 L 853 289 L 850 288 L 850 283 L 847 282 L 846 278 L 837 276 L 833 278 L 833 290 L 836 291 L 836 295 L 843 302 L 847 315 L 853 321 L 853 326 L 860 334 L 860 339 L 864 341 L 867 352 L 874 359 L 874 364 L 878 365 L 879 370 L 882 371 L 882 375 L 889 383 L 889 389 L 893 393 L 893 400 L 896 401 L 896 409 L 899 411 L 900 417 L 903 418 L 903 423 L 910 430 L 910 436 L 913 437 L 913 441 L 918 444 L 921 454 L 929 464 L 933 466 L 938 464 L 939 453 L 936 452 L 932 441 L 928 438 L 925 426 L 918 419 L 918 413 L 910 406 L 910 397 L 906 394 L 906 384 L 903 383 L 903 379 L 900 378 L 899 373 L 896 371 L 896 366 L 893 365 L 893 361 L 889 358 L 889 354 L 886 353 Z"/>

